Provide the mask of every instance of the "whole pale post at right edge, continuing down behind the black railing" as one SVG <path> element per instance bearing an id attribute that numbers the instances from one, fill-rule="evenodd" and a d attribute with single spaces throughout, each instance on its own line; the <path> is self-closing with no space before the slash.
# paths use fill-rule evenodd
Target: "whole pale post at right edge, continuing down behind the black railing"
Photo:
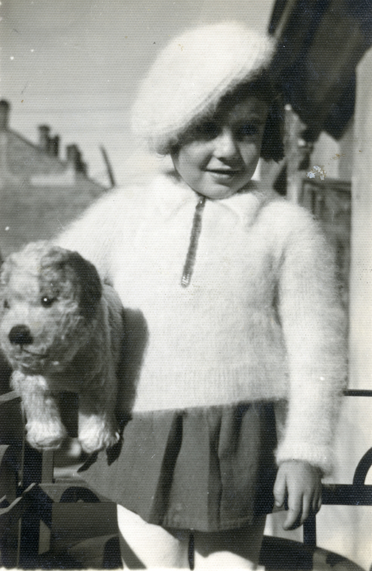
<path id="1" fill-rule="evenodd" d="M 349 324 L 349 387 L 372 389 L 372 50 L 357 68 Z M 344 438 L 338 456 L 339 476 L 350 481 L 350 467 L 354 471 L 372 446 L 372 397 L 345 399 L 341 423 Z M 371 481 L 371 475 L 367 476 L 366 483 Z M 372 506 L 348 509 L 349 518 L 343 520 L 343 548 L 349 544 L 349 557 L 368 569 L 372 564 Z"/>

